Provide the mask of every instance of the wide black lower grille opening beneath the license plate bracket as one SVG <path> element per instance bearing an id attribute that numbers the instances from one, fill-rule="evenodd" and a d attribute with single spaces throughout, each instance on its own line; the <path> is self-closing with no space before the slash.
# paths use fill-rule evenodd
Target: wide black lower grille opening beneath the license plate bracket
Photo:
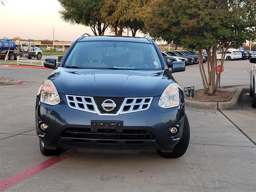
<path id="1" fill-rule="evenodd" d="M 98 129 L 97 132 L 92 132 L 90 128 L 67 128 L 62 132 L 61 137 L 94 140 L 155 140 L 152 132 L 144 129 L 124 129 L 120 133 L 114 129 Z"/>

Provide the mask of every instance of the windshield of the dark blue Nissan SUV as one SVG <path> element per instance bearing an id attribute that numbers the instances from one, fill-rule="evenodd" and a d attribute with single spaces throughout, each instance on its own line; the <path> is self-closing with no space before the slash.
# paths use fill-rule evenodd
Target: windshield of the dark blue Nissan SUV
<path id="1" fill-rule="evenodd" d="M 78 42 L 65 62 L 66 68 L 161 70 L 152 44 L 136 42 Z"/>

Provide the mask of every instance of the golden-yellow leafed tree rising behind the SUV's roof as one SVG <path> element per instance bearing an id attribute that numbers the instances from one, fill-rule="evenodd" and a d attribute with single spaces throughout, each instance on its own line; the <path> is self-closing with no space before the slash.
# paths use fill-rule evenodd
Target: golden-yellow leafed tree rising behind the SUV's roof
<path id="1" fill-rule="evenodd" d="M 115 35 L 121 36 L 125 27 L 130 27 L 132 36 L 143 27 L 148 13 L 148 0 L 104 0 L 102 18 L 109 23 Z"/>

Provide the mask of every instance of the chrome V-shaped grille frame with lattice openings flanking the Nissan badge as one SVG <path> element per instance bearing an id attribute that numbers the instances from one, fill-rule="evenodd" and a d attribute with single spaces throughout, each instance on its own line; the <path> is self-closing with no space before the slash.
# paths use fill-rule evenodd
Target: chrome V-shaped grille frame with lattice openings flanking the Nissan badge
<path id="1" fill-rule="evenodd" d="M 98 115 L 117 116 L 119 114 L 126 114 L 126 113 L 131 113 L 131 112 L 139 112 L 139 111 L 148 110 L 148 108 L 150 107 L 151 102 L 153 100 L 153 97 L 124 98 L 119 110 L 116 113 L 102 113 L 98 109 L 98 106 L 95 102 L 94 97 L 66 95 L 66 99 L 68 102 L 68 106 L 70 108 L 82 110 L 82 111 L 86 111 L 86 112 L 91 112 L 91 113 L 97 113 Z M 90 102 L 88 102 L 88 100 Z M 130 102 L 131 100 L 132 100 L 132 102 Z M 88 107 L 88 105 L 90 105 L 90 106 Z"/>

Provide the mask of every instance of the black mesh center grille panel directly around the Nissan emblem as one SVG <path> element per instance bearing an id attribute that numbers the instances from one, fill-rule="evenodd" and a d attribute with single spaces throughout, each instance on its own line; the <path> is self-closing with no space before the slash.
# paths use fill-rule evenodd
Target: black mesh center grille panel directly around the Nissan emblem
<path id="1" fill-rule="evenodd" d="M 111 99 L 115 102 L 116 107 L 112 110 L 112 111 L 105 111 L 101 104 L 107 100 L 107 99 Z M 120 106 L 122 105 L 122 103 L 124 102 L 124 98 L 123 97 L 94 97 L 94 101 L 98 107 L 98 110 L 100 111 L 100 113 L 112 113 L 112 114 L 116 114 L 118 112 L 118 110 L 120 109 Z"/>

